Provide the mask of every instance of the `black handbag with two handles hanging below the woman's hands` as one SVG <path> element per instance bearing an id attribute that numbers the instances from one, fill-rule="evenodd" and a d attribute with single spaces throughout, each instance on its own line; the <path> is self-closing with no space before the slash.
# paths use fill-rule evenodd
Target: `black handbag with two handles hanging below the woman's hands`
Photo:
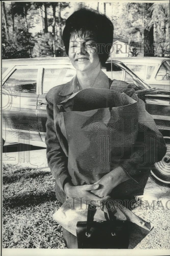
<path id="1" fill-rule="evenodd" d="M 96 207 L 88 205 L 87 221 L 78 221 L 76 226 L 79 249 L 128 249 L 128 222 L 116 220 L 108 209 L 109 219 L 93 221 Z"/>

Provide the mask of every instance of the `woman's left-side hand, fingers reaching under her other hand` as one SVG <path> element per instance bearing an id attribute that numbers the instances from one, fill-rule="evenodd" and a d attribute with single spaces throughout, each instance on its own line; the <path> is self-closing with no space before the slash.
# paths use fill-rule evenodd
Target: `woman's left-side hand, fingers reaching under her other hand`
<path id="1" fill-rule="evenodd" d="M 91 193 L 90 190 L 96 191 L 96 189 L 99 188 L 99 184 L 91 184 L 91 185 L 81 185 L 81 186 L 73 186 L 69 182 L 64 185 L 64 191 L 68 198 L 76 197 L 80 198 L 82 197 L 83 203 L 88 204 L 90 201 L 92 201 L 93 204 L 96 206 L 101 206 L 102 201 L 107 200 L 109 197 L 106 198 L 100 198 L 96 196 L 94 193 Z M 86 200 L 86 201 L 85 201 Z"/>

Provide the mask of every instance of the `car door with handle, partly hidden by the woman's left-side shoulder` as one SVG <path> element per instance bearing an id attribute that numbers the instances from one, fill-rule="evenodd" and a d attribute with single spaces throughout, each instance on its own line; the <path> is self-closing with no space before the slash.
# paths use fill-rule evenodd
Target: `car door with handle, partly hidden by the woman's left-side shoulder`
<path id="1" fill-rule="evenodd" d="M 41 67 L 41 86 L 37 100 L 38 124 L 42 141 L 46 134 L 46 93 L 53 87 L 69 82 L 76 74 L 72 65 L 44 65 Z"/>

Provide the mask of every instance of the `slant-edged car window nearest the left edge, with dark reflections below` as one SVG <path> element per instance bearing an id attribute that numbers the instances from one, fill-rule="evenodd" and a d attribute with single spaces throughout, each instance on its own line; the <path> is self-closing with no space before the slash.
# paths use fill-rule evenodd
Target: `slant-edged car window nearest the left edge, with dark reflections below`
<path id="1" fill-rule="evenodd" d="M 18 87 L 22 93 L 36 93 L 37 72 L 38 69 L 16 69 L 4 86 Z"/>

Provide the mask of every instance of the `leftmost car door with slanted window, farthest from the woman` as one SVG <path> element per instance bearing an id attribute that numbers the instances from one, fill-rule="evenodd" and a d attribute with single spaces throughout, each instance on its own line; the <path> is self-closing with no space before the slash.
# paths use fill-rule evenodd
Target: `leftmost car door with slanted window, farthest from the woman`
<path id="1" fill-rule="evenodd" d="M 38 118 L 39 70 L 35 65 L 15 66 L 4 78 L 2 87 L 3 139 L 31 144 L 41 141 Z"/>

